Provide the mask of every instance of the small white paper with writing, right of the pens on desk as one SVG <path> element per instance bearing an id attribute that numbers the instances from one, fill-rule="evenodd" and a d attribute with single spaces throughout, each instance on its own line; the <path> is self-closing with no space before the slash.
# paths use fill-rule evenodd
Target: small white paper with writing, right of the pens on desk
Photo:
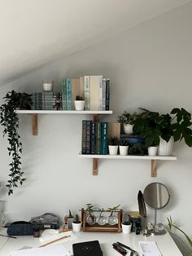
<path id="1" fill-rule="evenodd" d="M 162 256 L 155 241 L 139 241 L 138 244 L 143 256 Z"/>

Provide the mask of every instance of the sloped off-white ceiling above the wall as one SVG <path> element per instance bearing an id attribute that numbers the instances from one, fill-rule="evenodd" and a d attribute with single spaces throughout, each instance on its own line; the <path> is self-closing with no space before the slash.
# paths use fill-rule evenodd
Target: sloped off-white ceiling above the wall
<path id="1" fill-rule="evenodd" d="M 189 0 L 0 0 L 0 86 Z"/>

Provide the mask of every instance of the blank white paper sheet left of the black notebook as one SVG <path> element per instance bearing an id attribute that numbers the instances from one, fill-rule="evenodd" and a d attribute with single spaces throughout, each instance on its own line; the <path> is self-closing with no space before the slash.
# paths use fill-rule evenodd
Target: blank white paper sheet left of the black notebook
<path id="1" fill-rule="evenodd" d="M 11 256 L 71 256 L 63 245 L 49 245 L 41 248 L 21 249 L 10 254 Z"/>

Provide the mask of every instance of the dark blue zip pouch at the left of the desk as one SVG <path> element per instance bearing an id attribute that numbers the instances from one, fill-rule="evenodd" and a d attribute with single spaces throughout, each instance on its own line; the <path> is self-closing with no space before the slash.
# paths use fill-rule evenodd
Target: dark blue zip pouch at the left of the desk
<path id="1" fill-rule="evenodd" d="M 33 235 L 33 224 L 27 221 L 16 221 L 7 227 L 9 236 L 28 236 Z"/>

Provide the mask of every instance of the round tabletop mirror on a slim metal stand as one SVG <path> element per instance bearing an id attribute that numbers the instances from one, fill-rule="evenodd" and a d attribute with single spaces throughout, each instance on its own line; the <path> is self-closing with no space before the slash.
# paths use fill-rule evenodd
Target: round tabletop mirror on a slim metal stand
<path id="1" fill-rule="evenodd" d="M 163 209 L 168 205 L 170 198 L 168 188 L 162 183 L 150 183 L 143 192 L 143 198 L 148 207 L 155 210 L 155 235 L 164 235 L 166 233 L 164 225 L 156 223 L 156 211 Z"/>

